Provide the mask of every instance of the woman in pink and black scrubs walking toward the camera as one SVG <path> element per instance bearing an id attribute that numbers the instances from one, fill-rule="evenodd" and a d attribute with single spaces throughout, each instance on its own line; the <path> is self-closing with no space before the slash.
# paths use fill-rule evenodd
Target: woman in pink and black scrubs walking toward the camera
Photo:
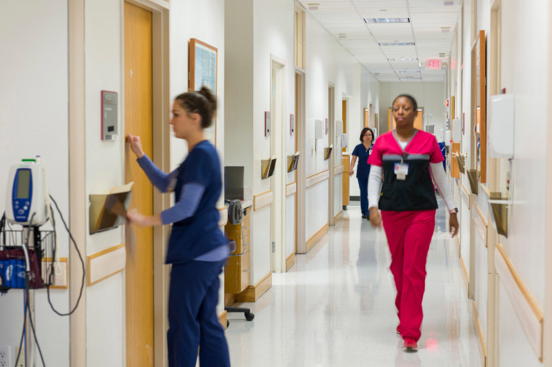
<path id="1" fill-rule="evenodd" d="M 393 101 L 397 128 L 377 139 L 368 164 L 370 221 L 384 227 L 391 251 L 391 272 L 397 286 L 397 333 L 405 351 L 417 350 L 424 317 L 422 299 L 426 259 L 435 229 L 435 187 L 450 213 L 450 231 L 458 231 L 457 209 L 442 166 L 443 156 L 433 134 L 414 128 L 417 103 L 402 94 Z M 381 210 L 381 216 L 380 211 Z"/>

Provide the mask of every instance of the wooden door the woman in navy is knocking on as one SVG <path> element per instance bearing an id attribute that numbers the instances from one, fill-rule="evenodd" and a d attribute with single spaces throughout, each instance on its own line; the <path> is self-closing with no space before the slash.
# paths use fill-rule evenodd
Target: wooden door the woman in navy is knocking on
<path id="1" fill-rule="evenodd" d="M 140 136 L 152 158 L 152 14 L 124 8 L 125 135 Z M 135 182 L 130 209 L 152 215 L 152 185 L 128 145 L 125 180 Z M 126 365 L 153 366 L 153 230 L 129 226 L 126 238 Z"/>

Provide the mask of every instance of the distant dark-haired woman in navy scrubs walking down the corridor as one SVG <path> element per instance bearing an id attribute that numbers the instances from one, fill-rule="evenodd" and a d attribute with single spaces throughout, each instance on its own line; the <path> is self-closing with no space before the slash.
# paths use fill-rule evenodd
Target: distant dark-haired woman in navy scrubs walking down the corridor
<path id="1" fill-rule="evenodd" d="M 362 218 L 368 218 L 368 176 L 370 175 L 370 165 L 368 165 L 368 157 L 372 151 L 372 143 L 374 140 L 374 132 L 370 127 L 364 127 L 360 133 L 361 144 L 353 150 L 353 159 L 351 159 L 351 168 L 349 176 L 353 176 L 355 171 L 355 162 L 358 158 L 357 180 L 360 188 L 360 210 Z"/>

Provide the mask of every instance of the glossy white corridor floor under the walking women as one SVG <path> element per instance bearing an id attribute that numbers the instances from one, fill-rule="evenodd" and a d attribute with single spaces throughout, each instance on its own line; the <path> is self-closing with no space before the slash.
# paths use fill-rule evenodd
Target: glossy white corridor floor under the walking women
<path id="1" fill-rule="evenodd" d="M 442 202 L 440 202 L 442 206 Z M 462 224 L 461 224 L 462 225 Z M 395 334 L 395 285 L 383 231 L 351 205 L 344 220 L 255 303 L 253 322 L 228 314 L 233 366 L 480 366 L 456 242 L 437 211 L 428 255 L 424 323 L 417 353 Z"/>

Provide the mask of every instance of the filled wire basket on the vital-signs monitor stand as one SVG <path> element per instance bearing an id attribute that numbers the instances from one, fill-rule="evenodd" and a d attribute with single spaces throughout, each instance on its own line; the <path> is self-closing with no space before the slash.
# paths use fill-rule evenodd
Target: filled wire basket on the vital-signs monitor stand
<path id="1" fill-rule="evenodd" d="M 26 258 L 23 244 L 28 244 L 31 289 L 44 288 L 54 281 L 55 232 L 38 227 L 0 231 L 0 291 L 26 288 Z"/>

